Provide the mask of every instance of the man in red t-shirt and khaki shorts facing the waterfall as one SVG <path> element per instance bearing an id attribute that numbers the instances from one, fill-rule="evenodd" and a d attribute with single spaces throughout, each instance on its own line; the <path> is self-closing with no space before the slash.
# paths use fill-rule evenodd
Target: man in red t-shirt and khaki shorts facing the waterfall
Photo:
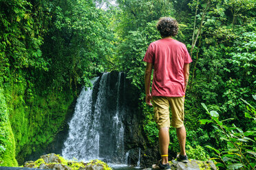
<path id="1" fill-rule="evenodd" d="M 189 82 L 189 63 L 192 62 L 186 46 L 174 40 L 178 34 L 178 23 L 175 19 L 163 17 L 158 21 L 157 29 L 162 39 L 149 45 L 144 61 L 146 103 L 153 104 L 154 120 L 158 124 L 160 154 L 162 160 L 153 169 L 171 169 L 168 163 L 169 147 L 169 106 L 171 107 L 171 125 L 176 128 L 180 144 L 177 160 L 188 162 L 185 150 L 186 129 L 184 127 L 184 97 Z M 150 92 L 151 71 L 153 84 Z M 152 100 L 152 104 L 151 104 Z"/>

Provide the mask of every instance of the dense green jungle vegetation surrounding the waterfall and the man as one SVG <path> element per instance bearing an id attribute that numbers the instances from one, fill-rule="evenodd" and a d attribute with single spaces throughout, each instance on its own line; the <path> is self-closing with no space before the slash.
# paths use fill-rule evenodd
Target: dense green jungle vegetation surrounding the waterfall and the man
<path id="1" fill-rule="evenodd" d="M 160 38 L 158 19 L 171 16 L 180 23 L 175 38 L 193 59 L 185 101 L 189 158 L 254 169 L 255 14 L 255 0 L 0 0 L 0 165 L 17 166 L 52 142 L 80 87 L 112 70 L 138 88 L 144 130 L 157 143 L 142 59 Z M 175 155 L 174 129 L 170 136 Z"/>

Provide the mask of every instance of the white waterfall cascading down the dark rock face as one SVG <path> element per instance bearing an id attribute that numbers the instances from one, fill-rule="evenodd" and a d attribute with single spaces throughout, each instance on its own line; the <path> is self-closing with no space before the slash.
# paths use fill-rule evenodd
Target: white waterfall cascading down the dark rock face
<path id="1" fill-rule="evenodd" d="M 103 73 L 101 78 L 92 81 L 93 89 L 81 91 L 62 150 L 64 158 L 126 163 L 122 123 L 125 76 L 119 73 L 114 85 L 109 79 L 109 73 Z"/>

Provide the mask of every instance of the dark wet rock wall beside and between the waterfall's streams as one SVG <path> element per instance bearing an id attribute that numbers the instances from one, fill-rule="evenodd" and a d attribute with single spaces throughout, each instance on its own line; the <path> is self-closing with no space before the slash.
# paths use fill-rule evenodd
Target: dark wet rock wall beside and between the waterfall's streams
<path id="1" fill-rule="evenodd" d="M 108 75 L 107 108 L 106 116 L 103 118 L 105 120 L 108 119 L 107 117 L 113 117 L 113 112 L 116 110 L 118 73 L 117 71 L 112 71 Z M 147 141 L 147 136 L 143 130 L 144 117 L 142 116 L 142 110 L 139 109 L 140 93 L 125 76 L 125 73 L 121 74 L 119 91 L 119 103 L 123 110 L 121 119 L 125 127 L 125 152 L 129 151 L 129 165 L 137 166 L 140 151 L 140 167 L 148 167 L 151 166 L 152 162 L 156 162 L 156 158 L 160 158 L 158 145 L 151 146 Z M 107 127 L 104 128 L 107 129 Z M 109 133 L 111 134 L 111 132 Z M 105 136 L 105 138 L 108 137 L 113 136 Z"/>

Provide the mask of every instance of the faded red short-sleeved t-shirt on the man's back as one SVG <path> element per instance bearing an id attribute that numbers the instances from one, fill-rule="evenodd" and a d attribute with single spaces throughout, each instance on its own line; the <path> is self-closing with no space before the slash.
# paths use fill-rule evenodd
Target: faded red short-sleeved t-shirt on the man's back
<path id="1" fill-rule="evenodd" d="M 145 62 L 153 63 L 152 96 L 182 97 L 184 93 L 184 63 L 192 62 L 186 45 L 163 38 L 149 45 Z"/>

